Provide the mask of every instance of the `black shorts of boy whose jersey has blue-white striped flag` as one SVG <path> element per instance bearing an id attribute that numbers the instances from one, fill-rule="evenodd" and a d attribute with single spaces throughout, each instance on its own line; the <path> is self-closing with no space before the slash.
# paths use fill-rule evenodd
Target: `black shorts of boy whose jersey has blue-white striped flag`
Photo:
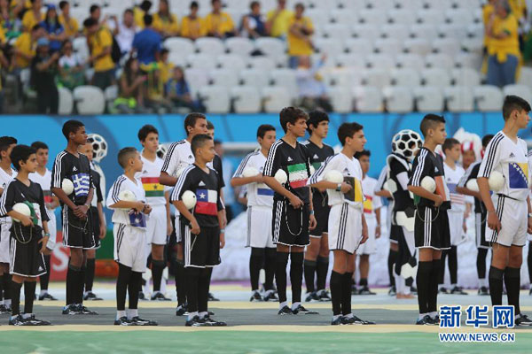
<path id="1" fill-rule="evenodd" d="M 82 220 L 77 218 L 66 205 L 63 207 L 61 213 L 63 218 L 63 246 L 83 250 L 96 247 L 90 214 L 87 212 L 87 219 Z"/>

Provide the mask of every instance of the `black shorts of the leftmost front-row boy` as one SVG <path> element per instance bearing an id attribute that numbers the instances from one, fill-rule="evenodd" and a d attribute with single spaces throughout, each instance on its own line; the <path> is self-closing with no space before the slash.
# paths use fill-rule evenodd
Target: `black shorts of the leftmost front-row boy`
<path id="1" fill-rule="evenodd" d="M 11 235 L 9 273 L 25 277 L 38 277 L 46 273 L 43 254 L 41 253 L 41 236 L 34 235 L 29 242 L 19 242 Z"/>

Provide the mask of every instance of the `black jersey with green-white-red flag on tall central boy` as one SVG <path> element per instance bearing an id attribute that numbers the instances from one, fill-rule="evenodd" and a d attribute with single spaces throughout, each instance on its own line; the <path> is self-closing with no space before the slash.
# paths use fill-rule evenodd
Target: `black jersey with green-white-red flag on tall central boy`
<path id="1" fill-rule="evenodd" d="M 268 158 L 264 165 L 263 175 L 274 177 L 278 170 L 285 171 L 288 181 L 285 188 L 298 196 L 304 204 L 310 204 L 309 187 L 307 180 L 310 177 L 309 150 L 300 142 L 295 142 L 295 148 L 283 139 L 271 145 Z M 275 192 L 274 200 L 283 200 L 285 197 Z"/>

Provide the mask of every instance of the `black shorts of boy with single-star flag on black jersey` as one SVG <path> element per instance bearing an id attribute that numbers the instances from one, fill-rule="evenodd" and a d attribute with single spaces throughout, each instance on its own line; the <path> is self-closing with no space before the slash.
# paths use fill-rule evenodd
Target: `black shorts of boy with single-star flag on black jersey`
<path id="1" fill-rule="evenodd" d="M 184 244 L 184 266 L 205 268 L 220 264 L 220 227 L 202 227 L 192 235 L 191 227 L 181 223 Z"/>

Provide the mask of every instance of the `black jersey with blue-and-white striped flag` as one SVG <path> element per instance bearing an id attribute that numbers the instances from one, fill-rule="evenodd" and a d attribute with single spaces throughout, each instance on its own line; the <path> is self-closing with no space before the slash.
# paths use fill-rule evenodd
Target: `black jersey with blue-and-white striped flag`
<path id="1" fill-rule="evenodd" d="M 74 192 L 68 196 L 76 205 L 87 202 L 89 189 L 93 188 L 90 161 L 83 154 L 76 158 L 70 152 L 59 152 L 51 169 L 51 188 L 61 188 L 64 179 L 72 181 Z"/>

